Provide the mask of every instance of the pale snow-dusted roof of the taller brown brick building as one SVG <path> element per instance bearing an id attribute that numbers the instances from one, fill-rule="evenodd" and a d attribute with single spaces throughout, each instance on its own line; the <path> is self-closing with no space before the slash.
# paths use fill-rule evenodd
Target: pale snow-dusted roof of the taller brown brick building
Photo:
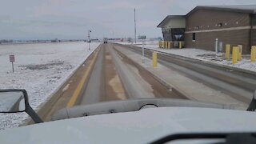
<path id="1" fill-rule="evenodd" d="M 256 14 L 256 5 L 222 5 L 222 6 L 196 6 L 186 17 L 193 14 L 197 10 L 222 10 L 239 13 Z"/>

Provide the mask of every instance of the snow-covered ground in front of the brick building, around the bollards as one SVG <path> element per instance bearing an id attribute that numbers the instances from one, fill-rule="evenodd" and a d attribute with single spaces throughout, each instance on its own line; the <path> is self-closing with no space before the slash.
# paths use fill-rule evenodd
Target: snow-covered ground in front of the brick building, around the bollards
<path id="1" fill-rule="evenodd" d="M 123 42 L 119 42 L 119 43 L 125 44 Z M 142 47 L 141 44 L 137 46 Z M 238 61 L 237 64 L 233 65 L 231 58 L 230 60 L 225 59 L 224 53 L 216 54 L 214 51 L 200 50 L 200 49 L 194 49 L 194 48 L 183 48 L 181 50 L 180 49 L 170 49 L 170 50 L 160 49 L 158 48 L 158 42 L 146 42 L 145 47 L 151 50 L 158 50 L 168 54 L 181 55 L 188 58 L 194 58 L 194 59 L 198 59 L 206 62 L 213 62 L 213 63 L 224 65 L 224 66 L 233 66 L 239 69 L 256 72 L 256 62 L 250 62 L 249 54 L 243 55 L 242 61 Z"/>

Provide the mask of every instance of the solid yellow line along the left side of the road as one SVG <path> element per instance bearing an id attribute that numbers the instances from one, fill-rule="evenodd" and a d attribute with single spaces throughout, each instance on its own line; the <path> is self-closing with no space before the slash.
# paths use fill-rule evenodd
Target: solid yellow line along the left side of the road
<path id="1" fill-rule="evenodd" d="M 90 74 L 90 70 L 92 69 L 92 66 L 97 58 L 98 55 L 98 51 L 97 54 L 94 55 L 93 60 L 90 62 L 90 66 L 88 66 L 85 74 L 82 76 L 81 81 L 79 82 L 77 88 L 74 90 L 74 94 L 72 95 L 72 97 L 70 98 L 70 101 L 67 103 L 67 107 L 72 107 L 74 106 L 75 102 L 78 99 L 78 95 L 81 93 L 82 87 L 84 85 L 84 83 L 86 82 L 86 79 L 88 78 L 89 74 Z"/>

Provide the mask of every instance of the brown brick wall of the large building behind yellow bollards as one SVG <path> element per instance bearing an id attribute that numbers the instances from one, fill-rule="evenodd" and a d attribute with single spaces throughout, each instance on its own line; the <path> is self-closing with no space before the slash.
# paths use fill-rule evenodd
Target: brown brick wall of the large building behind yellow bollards
<path id="1" fill-rule="evenodd" d="M 222 23 L 221 27 L 218 26 L 219 23 Z M 250 14 L 219 10 L 198 10 L 186 18 L 186 32 L 221 30 L 242 26 L 250 26 Z M 191 33 L 185 34 L 185 46 L 214 50 L 216 38 L 218 38 L 219 42 L 223 42 L 223 50 L 225 50 L 225 45 L 228 43 L 231 46 L 242 45 L 243 54 L 250 53 L 250 29 L 196 33 L 196 42 L 192 42 Z"/>

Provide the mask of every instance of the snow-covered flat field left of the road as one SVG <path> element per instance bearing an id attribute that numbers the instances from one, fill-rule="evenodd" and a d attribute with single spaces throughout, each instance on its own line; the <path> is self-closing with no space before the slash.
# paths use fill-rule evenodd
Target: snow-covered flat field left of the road
<path id="1" fill-rule="evenodd" d="M 85 42 L 0 45 L 0 89 L 25 89 L 34 110 L 98 47 Z M 9 55 L 15 55 L 12 73 Z M 19 126 L 26 113 L 0 114 L 0 130 Z"/>

